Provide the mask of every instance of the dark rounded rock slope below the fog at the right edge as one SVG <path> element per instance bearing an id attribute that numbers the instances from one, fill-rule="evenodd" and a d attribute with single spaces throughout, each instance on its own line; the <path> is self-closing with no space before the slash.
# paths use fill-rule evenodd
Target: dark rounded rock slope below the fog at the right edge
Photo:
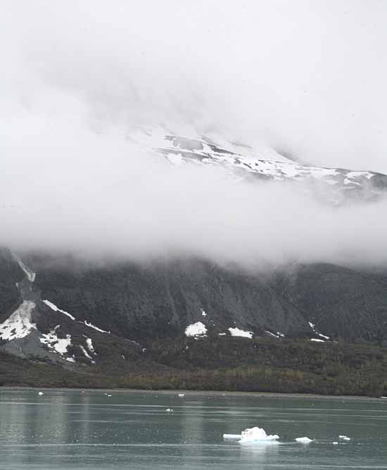
<path id="1" fill-rule="evenodd" d="M 387 338 L 387 278 L 336 265 L 298 266 L 277 279 L 281 295 L 317 331 L 349 341 Z"/>

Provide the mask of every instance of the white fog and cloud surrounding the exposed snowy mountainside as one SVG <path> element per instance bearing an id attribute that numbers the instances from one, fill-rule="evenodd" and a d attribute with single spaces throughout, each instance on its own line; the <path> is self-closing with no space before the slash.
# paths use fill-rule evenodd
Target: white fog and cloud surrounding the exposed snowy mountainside
<path id="1" fill-rule="evenodd" d="M 386 3 L 227 3 L 1 2 L 1 244 L 387 262 L 383 199 L 332 208 L 286 184 L 172 167 L 127 139 L 192 129 L 387 172 Z"/>

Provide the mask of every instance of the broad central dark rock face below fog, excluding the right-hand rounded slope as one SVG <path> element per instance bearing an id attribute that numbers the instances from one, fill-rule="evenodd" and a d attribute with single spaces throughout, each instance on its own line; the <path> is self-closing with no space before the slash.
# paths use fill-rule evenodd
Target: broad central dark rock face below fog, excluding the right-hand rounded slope
<path id="1" fill-rule="evenodd" d="M 126 264 L 76 275 L 37 271 L 42 298 L 127 338 L 181 336 L 199 321 L 208 334 L 228 334 L 230 327 L 256 335 L 268 330 L 297 336 L 310 330 L 267 281 L 201 260 Z"/>

